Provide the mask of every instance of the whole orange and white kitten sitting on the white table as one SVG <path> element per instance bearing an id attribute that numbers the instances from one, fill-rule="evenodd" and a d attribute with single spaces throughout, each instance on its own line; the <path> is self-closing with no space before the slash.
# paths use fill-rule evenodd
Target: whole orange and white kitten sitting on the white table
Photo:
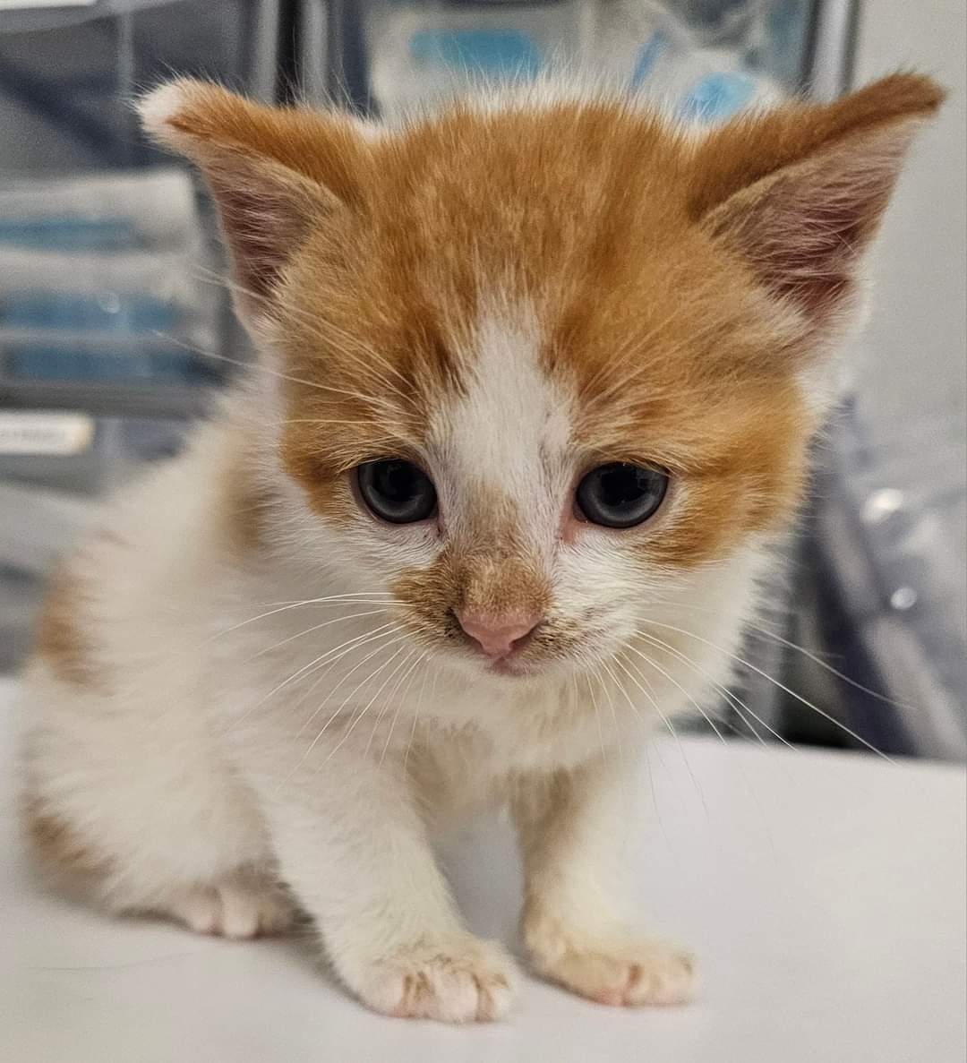
<path id="1" fill-rule="evenodd" d="M 533 969 L 685 999 L 692 961 L 640 933 L 615 870 L 632 752 L 728 680 L 940 99 L 898 74 L 696 134 L 607 94 L 398 129 L 150 94 L 260 361 L 52 588 L 41 853 L 200 931 L 281 928 L 291 895 L 371 1008 L 492 1019 L 514 965 L 430 840 L 507 802 Z"/>

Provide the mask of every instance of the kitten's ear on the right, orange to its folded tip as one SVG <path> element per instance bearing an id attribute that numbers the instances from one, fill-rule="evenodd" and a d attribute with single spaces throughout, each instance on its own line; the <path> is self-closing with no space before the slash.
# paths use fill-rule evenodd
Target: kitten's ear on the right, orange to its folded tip
<path id="1" fill-rule="evenodd" d="M 740 118 L 696 148 L 693 218 L 800 310 L 813 343 L 850 308 L 906 149 L 944 96 L 894 74 L 834 103 Z"/>

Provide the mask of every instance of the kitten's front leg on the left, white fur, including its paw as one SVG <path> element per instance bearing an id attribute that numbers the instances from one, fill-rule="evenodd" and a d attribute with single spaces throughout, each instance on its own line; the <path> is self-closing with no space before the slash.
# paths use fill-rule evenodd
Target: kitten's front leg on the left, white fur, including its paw
<path id="1" fill-rule="evenodd" d="M 258 774 L 283 878 L 359 999 L 451 1023 L 505 1014 L 513 963 L 464 929 L 397 762 L 335 740 L 311 770 Z"/>

